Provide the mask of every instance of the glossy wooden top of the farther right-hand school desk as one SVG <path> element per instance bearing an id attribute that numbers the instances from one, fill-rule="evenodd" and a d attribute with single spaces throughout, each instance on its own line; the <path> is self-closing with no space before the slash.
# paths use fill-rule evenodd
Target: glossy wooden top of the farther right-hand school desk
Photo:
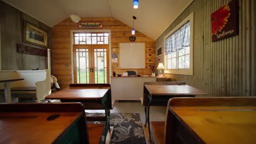
<path id="1" fill-rule="evenodd" d="M 152 95 L 207 95 L 189 85 L 144 85 Z"/>

